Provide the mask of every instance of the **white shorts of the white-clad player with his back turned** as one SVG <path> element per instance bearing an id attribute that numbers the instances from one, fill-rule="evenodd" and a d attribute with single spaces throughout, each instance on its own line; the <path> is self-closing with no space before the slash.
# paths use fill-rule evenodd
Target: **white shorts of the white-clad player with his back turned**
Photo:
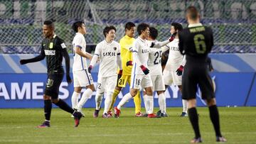
<path id="1" fill-rule="evenodd" d="M 152 90 L 154 91 L 164 91 L 164 77 L 162 74 L 151 75 L 151 81 L 153 84 Z"/>

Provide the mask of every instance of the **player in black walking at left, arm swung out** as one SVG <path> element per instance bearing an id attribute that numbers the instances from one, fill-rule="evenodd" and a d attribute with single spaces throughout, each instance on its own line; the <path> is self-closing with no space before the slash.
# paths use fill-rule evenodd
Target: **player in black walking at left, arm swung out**
<path id="1" fill-rule="evenodd" d="M 37 57 L 20 61 L 21 65 L 24 65 L 29 62 L 38 62 L 46 57 L 48 77 L 46 89 L 43 94 L 44 112 L 46 120 L 43 122 L 42 125 L 38 126 L 38 128 L 50 127 L 50 112 L 52 109 L 52 103 L 56 106 L 59 106 L 60 109 L 63 109 L 64 111 L 73 114 L 75 118 L 75 126 L 77 127 L 80 123 L 82 113 L 72 109 L 62 99 L 58 99 L 60 83 L 62 82 L 64 76 L 64 70 L 62 66 L 63 57 L 65 58 L 65 71 L 67 82 L 68 84 L 72 82 L 72 79 L 70 78 L 70 59 L 66 50 L 64 40 L 55 35 L 54 24 L 52 21 L 43 22 L 43 35 L 45 38 L 42 42 L 41 54 Z"/>

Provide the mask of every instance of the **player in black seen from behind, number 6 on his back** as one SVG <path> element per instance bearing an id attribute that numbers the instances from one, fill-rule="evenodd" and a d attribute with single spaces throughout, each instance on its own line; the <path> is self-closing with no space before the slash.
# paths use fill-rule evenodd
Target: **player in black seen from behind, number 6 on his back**
<path id="1" fill-rule="evenodd" d="M 188 28 L 184 28 L 178 33 L 178 45 L 181 54 L 186 55 L 182 79 L 182 97 L 188 100 L 188 117 L 196 135 L 191 143 L 202 142 L 196 111 L 197 84 L 201 89 L 202 99 L 205 99 L 208 105 L 216 141 L 226 142 L 227 140 L 220 133 L 220 118 L 213 92 L 213 82 L 208 74 L 206 62 L 208 53 L 213 47 L 213 31 L 200 23 L 199 13 L 194 6 L 189 6 L 186 9 L 186 19 Z"/>

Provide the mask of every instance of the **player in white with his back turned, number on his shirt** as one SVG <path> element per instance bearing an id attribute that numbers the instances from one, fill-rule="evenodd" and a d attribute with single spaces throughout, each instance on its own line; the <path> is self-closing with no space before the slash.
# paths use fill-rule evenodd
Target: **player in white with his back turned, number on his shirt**
<path id="1" fill-rule="evenodd" d="M 149 38 L 147 38 L 147 42 L 150 43 L 154 42 L 156 43 L 158 36 L 158 31 L 154 27 L 149 28 Z M 157 113 L 158 116 L 167 117 L 166 113 L 166 96 L 164 95 L 164 77 L 162 74 L 162 67 L 161 67 L 161 49 L 157 48 L 150 48 L 149 49 L 149 74 L 151 77 L 151 82 L 153 84 L 152 90 L 153 92 L 156 91 L 159 98 L 159 109 L 160 111 Z M 146 99 L 147 96 L 144 96 L 144 99 Z M 145 102 L 145 101 L 144 101 Z M 147 104 L 144 103 L 145 108 L 147 109 Z M 146 116 L 146 114 L 145 114 Z"/>

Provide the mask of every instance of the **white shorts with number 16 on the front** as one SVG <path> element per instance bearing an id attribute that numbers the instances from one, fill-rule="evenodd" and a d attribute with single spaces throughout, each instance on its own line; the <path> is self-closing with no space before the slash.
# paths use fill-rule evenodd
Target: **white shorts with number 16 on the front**
<path id="1" fill-rule="evenodd" d="M 152 87 L 152 81 L 150 78 L 150 75 L 147 74 L 132 74 L 132 78 L 131 78 L 131 85 L 130 88 L 131 89 L 140 89 L 140 87 L 142 87 L 142 89 L 146 88 L 146 87 Z"/>

